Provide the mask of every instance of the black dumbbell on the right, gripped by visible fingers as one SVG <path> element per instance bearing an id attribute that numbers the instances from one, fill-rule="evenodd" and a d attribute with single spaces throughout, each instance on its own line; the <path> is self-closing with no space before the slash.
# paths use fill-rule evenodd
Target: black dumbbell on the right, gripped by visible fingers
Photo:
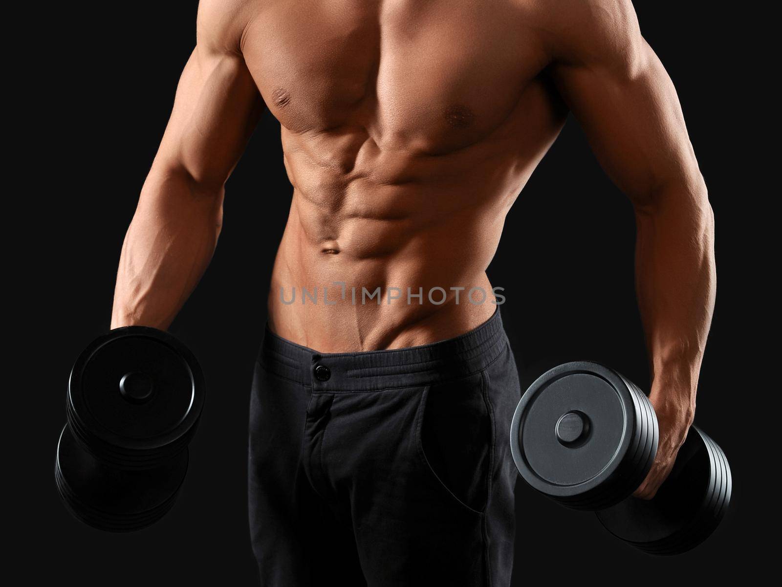
<path id="1" fill-rule="evenodd" d="M 586 361 L 530 385 L 511 422 L 511 453 L 529 485 L 563 506 L 593 510 L 617 538 L 668 555 L 698 546 L 730 503 L 722 449 L 692 426 L 654 499 L 631 496 L 655 460 L 655 410 L 636 385 Z"/>

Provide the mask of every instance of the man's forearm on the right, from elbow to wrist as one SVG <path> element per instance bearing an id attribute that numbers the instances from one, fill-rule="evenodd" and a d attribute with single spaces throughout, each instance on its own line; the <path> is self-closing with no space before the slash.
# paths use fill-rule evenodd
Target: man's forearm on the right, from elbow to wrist
<path id="1" fill-rule="evenodd" d="M 675 184 L 637 208 L 636 287 L 655 408 L 691 422 L 716 292 L 706 188 Z"/>

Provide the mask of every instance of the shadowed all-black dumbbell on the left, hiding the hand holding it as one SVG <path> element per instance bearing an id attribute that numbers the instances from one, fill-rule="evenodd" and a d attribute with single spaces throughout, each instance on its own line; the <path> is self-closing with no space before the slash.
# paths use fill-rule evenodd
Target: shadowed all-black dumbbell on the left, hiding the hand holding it
<path id="1" fill-rule="evenodd" d="M 74 364 L 55 481 L 71 514 L 131 532 L 174 505 L 206 394 L 195 356 L 167 332 L 117 328 Z"/>

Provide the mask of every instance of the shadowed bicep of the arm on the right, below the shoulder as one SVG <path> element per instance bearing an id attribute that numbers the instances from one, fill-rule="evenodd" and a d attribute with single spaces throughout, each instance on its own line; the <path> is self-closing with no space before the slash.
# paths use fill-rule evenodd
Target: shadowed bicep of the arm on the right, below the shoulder
<path id="1" fill-rule="evenodd" d="M 631 42 L 622 55 L 558 65 L 553 73 L 601 166 L 642 204 L 668 184 L 701 178 L 673 82 L 640 34 Z"/>

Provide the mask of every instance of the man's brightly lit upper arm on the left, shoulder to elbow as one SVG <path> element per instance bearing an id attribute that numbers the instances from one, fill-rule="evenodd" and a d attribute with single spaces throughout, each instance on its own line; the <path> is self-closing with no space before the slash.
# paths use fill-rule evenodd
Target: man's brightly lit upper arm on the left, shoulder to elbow
<path id="1" fill-rule="evenodd" d="M 241 52 L 242 2 L 202 0 L 196 45 L 181 73 L 152 168 L 221 187 L 263 107 Z"/>

